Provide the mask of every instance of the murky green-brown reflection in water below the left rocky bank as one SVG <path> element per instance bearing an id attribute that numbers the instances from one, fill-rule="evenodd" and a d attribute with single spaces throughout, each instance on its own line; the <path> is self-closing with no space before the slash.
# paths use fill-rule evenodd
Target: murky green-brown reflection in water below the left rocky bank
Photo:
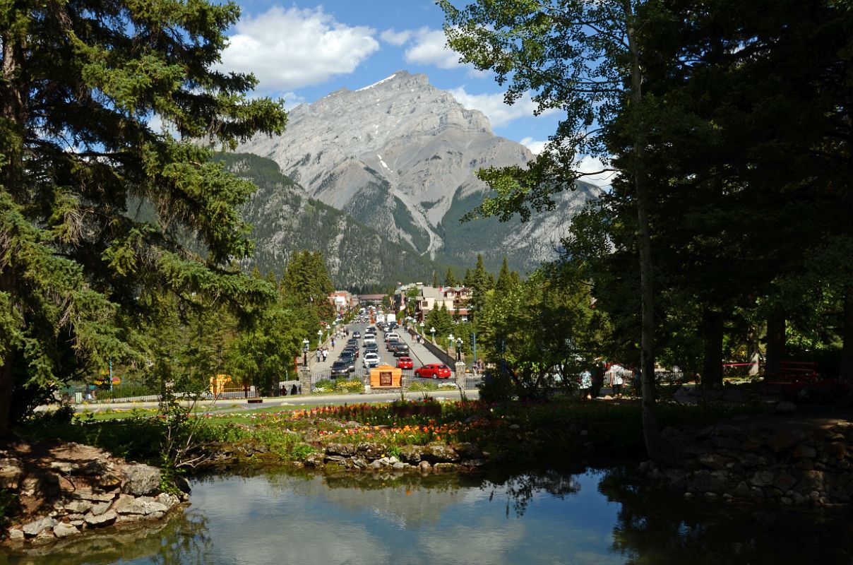
<path id="1" fill-rule="evenodd" d="M 176 514 L 166 521 L 134 526 L 108 527 L 26 550 L 15 556 L 20 565 L 106 565 L 120 560 L 150 557 L 160 565 L 212 564 L 212 541 L 207 519 L 201 515 Z M 0 552 L 0 557 L 3 557 Z"/>

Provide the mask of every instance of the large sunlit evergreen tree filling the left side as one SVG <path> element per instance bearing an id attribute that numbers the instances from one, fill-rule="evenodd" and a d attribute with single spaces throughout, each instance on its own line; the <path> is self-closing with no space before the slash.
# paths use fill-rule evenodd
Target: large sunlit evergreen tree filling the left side
<path id="1" fill-rule="evenodd" d="M 109 358 L 144 364 L 136 329 L 160 296 L 269 300 L 231 263 L 252 249 L 238 208 L 253 187 L 199 143 L 234 148 L 285 124 L 280 102 L 247 98 L 251 75 L 213 68 L 238 15 L 205 0 L 4 6 L 0 434 L 16 393 Z"/>

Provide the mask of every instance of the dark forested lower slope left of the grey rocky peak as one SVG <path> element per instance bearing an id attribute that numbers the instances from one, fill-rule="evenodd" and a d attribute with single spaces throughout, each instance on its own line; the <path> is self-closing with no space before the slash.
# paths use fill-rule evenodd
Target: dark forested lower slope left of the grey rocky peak
<path id="1" fill-rule="evenodd" d="M 255 241 L 255 253 L 244 265 L 247 269 L 257 266 L 263 273 L 281 276 L 291 253 L 319 250 L 337 288 L 375 290 L 397 281 L 429 281 L 432 271 L 442 268 L 407 243 L 388 242 L 347 214 L 305 197 L 305 191 L 281 174 L 272 160 L 254 154 L 221 154 L 218 160 L 258 187 L 242 211 L 253 226 L 250 237 Z"/>

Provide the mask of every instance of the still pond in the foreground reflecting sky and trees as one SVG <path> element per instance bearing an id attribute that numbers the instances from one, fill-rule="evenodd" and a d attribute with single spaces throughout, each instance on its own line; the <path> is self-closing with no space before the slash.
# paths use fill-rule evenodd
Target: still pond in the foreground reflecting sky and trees
<path id="1" fill-rule="evenodd" d="M 849 515 L 735 509 L 644 492 L 620 467 L 466 475 L 256 475 L 194 481 L 170 521 L 9 563 L 850 563 Z"/>

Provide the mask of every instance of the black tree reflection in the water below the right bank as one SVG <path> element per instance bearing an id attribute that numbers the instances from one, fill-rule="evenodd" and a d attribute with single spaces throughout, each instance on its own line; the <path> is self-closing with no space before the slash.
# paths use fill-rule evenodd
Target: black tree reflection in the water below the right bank
<path id="1" fill-rule="evenodd" d="M 599 489 L 621 505 L 613 550 L 626 563 L 850 563 L 849 513 L 756 510 L 689 502 L 648 492 L 625 469 L 611 469 Z"/>

